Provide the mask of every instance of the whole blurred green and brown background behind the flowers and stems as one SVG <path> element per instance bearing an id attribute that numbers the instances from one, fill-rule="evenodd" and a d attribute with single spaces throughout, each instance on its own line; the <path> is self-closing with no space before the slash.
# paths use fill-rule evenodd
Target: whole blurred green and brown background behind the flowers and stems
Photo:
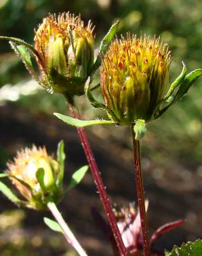
<path id="1" fill-rule="evenodd" d="M 140 32 L 157 35 L 172 50 L 170 82 L 182 68 L 202 67 L 202 2 L 200 0 L 0 0 L 0 35 L 19 37 L 33 44 L 34 28 L 48 12 L 81 14 L 95 25 L 95 44 L 111 24 L 121 20 L 119 34 Z M 97 81 L 99 79 L 97 75 Z M 98 92 L 99 93 L 99 92 Z M 99 98 L 98 94 L 98 98 Z M 149 124 L 143 140 L 145 193 L 149 199 L 149 232 L 176 219 L 182 226 L 156 242 L 156 248 L 170 249 L 182 241 L 202 238 L 202 78 L 188 95 L 165 115 Z M 86 119 L 105 117 L 78 98 Z M 7 42 L 0 42 L 0 169 L 21 147 L 46 145 L 56 151 L 59 140 L 66 143 L 66 183 L 73 171 L 86 160 L 75 129 L 53 116 L 68 114 L 62 95 L 50 95 L 33 80 Z M 91 145 L 112 203 L 136 199 L 131 134 L 127 127 L 87 129 Z M 110 152 L 110 154 L 109 154 Z M 48 212 L 17 209 L 1 196 L 1 256 L 75 255 L 61 235 L 43 223 Z M 89 255 L 112 255 L 107 240 L 93 223 L 91 208 L 104 216 L 91 174 L 59 205 L 64 218 Z"/>

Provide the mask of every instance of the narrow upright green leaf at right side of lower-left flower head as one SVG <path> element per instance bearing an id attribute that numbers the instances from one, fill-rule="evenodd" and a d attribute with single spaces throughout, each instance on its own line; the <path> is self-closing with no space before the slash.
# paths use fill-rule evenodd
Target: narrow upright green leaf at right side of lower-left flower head
<path id="1" fill-rule="evenodd" d="M 59 163 L 59 176 L 57 177 L 56 185 L 61 185 L 63 177 L 64 177 L 64 141 L 61 140 L 57 145 L 57 162 Z"/>

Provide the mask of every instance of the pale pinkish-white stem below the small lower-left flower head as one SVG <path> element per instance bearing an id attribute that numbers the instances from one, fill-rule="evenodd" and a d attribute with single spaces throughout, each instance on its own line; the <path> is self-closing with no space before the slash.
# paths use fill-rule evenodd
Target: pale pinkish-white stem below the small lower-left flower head
<path id="1" fill-rule="evenodd" d="M 66 241 L 68 241 L 68 244 L 71 244 L 71 246 L 73 246 L 73 248 L 75 248 L 75 250 L 77 251 L 77 253 L 80 256 L 87 256 L 84 249 L 82 248 L 80 243 L 77 241 L 77 239 L 73 235 L 73 232 L 71 232 L 71 229 L 68 227 L 68 225 L 62 218 L 62 215 L 60 214 L 59 210 L 57 209 L 57 206 L 55 205 L 55 203 L 49 202 L 47 204 L 47 206 L 48 206 L 48 209 L 50 210 L 50 212 L 52 212 L 52 214 L 53 214 L 55 220 L 57 221 L 57 223 L 59 224 L 59 226 L 62 228 L 64 237 L 65 237 Z"/>

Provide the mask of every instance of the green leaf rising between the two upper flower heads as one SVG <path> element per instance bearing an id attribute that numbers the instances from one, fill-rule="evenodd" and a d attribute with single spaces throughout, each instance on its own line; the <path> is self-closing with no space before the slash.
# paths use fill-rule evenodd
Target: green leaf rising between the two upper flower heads
<path id="1" fill-rule="evenodd" d="M 118 30 L 118 24 L 119 23 L 120 23 L 120 21 L 116 21 L 116 23 L 113 24 L 111 26 L 111 28 L 109 28 L 108 33 L 102 39 L 102 42 L 100 43 L 100 49 L 99 49 L 98 57 L 95 60 L 95 63 L 93 65 L 93 68 L 91 69 L 90 75 L 93 75 L 93 73 L 95 73 L 95 71 L 99 68 L 99 66 L 101 64 L 100 55 L 104 55 L 107 52 L 107 50 L 109 48 L 109 44 L 110 44 L 111 40 L 113 39 L 114 35 L 116 34 L 116 32 Z"/>

